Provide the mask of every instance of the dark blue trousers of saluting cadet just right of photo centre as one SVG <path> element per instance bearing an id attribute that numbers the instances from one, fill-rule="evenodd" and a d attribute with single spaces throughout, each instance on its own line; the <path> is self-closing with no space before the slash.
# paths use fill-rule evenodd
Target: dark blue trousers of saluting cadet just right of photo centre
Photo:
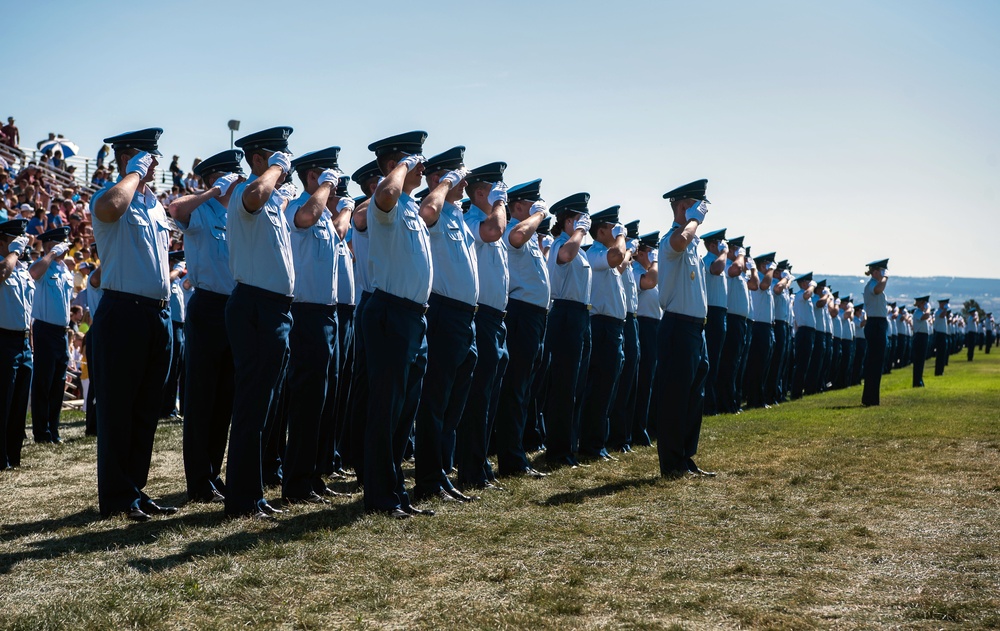
<path id="1" fill-rule="evenodd" d="M 493 432 L 500 475 L 513 475 L 530 467 L 524 450 L 524 432 L 531 384 L 538 370 L 545 338 L 547 310 L 520 300 L 507 304 L 507 372 L 500 384 L 500 401 Z"/>

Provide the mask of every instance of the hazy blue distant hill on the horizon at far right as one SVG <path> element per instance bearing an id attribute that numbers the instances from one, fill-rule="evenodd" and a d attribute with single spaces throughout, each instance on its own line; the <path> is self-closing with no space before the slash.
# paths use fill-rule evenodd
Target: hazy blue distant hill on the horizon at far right
<path id="1" fill-rule="evenodd" d="M 848 293 L 860 296 L 864 291 L 867 276 L 824 276 L 816 272 L 816 280 L 827 279 L 827 284 L 841 295 Z M 1000 279 L 996 278 L 956 278 L 954 276 L 889 276 L 886 287 L 890 302 L 912 305 L 914 296 L 931 295 L 931 300 L 951 298 L 952 309 L 962 308 L 962 303 L 972 298 L 986 312 L 992 312 L 1000 319 Z"/>

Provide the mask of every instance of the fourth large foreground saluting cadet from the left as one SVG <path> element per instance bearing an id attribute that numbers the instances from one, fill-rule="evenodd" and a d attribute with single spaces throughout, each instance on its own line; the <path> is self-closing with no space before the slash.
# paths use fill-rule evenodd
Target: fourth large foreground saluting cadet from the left
<path id="1" fill-rule="evenodd" d="M 285 207 L 290 230 L 295 290 L 288 334 L 288 442 L 283 454 L 281 495 L 286 504 L 328 502 L 334 492 L 323 481 L 321 463 L 332 460 L 333 417 L 323 425 L 328 392 L 336 393 L 337 240 L 347 234 L 353 204 L 338 200 L 340 147 L 292 160 L 304 191 Z M 330 380 L 333 380 L 331 387 Z"/>

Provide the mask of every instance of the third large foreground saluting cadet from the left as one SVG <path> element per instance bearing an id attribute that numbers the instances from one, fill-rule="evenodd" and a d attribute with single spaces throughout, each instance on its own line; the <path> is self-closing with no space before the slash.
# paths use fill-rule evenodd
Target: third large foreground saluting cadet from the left
<path id="1" fill-rule="evenodd" d="M 264 499 L 262 435 L 278 405 L 288 361 L 295 267 L 284 210 L 294 196 L 286 183 L 291 127 L 272 127 L 236 141 L 250 177 L 229 199 L 229 270 L 236 281 L 226 303 L 233 349 L 235 397 L 226 464 L 226 515 L 271 519 L 280 510 Z"/>

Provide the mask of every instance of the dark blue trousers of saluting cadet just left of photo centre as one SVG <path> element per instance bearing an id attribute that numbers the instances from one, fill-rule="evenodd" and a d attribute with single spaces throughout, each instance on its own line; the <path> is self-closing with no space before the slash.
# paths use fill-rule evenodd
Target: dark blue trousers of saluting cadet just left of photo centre
<path id="1" fill-rule="evenodd" d="M 505 312 L 479 305 L 476 313 L 476 349 L 479 358 L 462 421 L 455 432 L 455 465 L 463 486 L 482 486 L 495 478 L 486 460 L 493 421 L 500 401 L 500 384 L 507 372 Z"/>

